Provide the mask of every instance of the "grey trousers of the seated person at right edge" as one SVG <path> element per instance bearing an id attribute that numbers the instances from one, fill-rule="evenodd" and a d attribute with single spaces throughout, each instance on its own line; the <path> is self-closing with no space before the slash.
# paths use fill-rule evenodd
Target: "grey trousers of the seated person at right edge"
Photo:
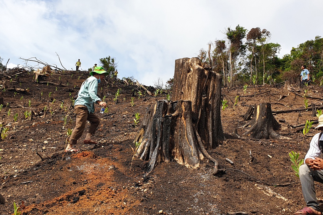
<path id="1" fill-rule="evenodd" d="M 299 168 L 299 179 L 301 180 L 306 206 L 321 211 L 315 194 L 314 181 L 323 183 L 323 170 L 312 170 L 309 169 L 309 166 L 303 164 Z"/>

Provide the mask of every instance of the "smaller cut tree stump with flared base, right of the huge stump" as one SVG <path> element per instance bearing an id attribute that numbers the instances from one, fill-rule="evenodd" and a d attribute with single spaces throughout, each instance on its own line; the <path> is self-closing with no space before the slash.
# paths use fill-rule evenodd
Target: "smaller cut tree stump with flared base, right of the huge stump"
<path id="1" fill-rule="evenodd" d="M 250 122 L 251 127 L 245 135 L 255 139 L 279 139 L 284 138 L 275 131 L 281 128 L 272 112 L 270 103 L 257 104 L 254 110 L 254 118 Z"/>

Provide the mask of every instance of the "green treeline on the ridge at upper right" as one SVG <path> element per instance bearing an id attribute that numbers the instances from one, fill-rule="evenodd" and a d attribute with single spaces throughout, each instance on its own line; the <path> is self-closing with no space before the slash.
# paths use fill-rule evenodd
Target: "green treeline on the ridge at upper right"
<path id="1" fill-rule="evenodd" d="M 307 66 L 314 84 L 323 85 L 321 36 L 293 47 L 290 54 L 279 58 L 281 46 L 269 42 L 271 34 L 266 29 L 256 27 L 247 32 L 238 25 L 235 29 L 228 27 L 224 34 L 223 40 L 211 42 L 208 51 L 201 48 L 198 55 L 203 63 L 211 63 L 213 71 L 223 75 L 224 86 L 278 83 L 300 77 L 302 65 Z"/>

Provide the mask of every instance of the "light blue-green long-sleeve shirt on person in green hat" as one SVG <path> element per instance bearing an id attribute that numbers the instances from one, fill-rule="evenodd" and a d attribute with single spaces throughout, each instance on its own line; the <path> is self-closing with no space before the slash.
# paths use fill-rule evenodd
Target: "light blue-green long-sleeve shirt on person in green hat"
<path id="1" fill-rule="evenodd" d="M 101 101 L 97 96 L 98 92 L 98 79 L 94 76 L 90 76 L 86 79 L 80 90 L 78 91 L 78 97 L 75 99 L 75 105 L 85 105 L 89 113 L 94 113 L 94 103 Z"/>

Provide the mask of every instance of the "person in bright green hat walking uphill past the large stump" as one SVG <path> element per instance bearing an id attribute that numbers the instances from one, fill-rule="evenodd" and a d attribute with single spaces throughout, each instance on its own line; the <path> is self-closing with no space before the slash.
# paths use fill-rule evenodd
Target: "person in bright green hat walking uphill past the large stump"
<path id="1" fill-rule="evenodd" d="M 76 113 L 76 126 L 69 138 L 65 152 L 78 152 L 80 149 L 73 148 L 82 136 L 87 120 L 90 121 L 89 131 L 83 141 L 84 144 L 97 144 L 91 139 L 92 134 L 95 134 L 96 128 L 99 126 L 100 118 L 94 114 L 94 103 L 106 108 L 107 104 L 97 96 L 98 83 L 104 79 L 108 72 L 104 71 L 103 67 L 95 67 L 94 71 L 90 72 L 90 77 L 86 79 L 74 103 Z"/>

